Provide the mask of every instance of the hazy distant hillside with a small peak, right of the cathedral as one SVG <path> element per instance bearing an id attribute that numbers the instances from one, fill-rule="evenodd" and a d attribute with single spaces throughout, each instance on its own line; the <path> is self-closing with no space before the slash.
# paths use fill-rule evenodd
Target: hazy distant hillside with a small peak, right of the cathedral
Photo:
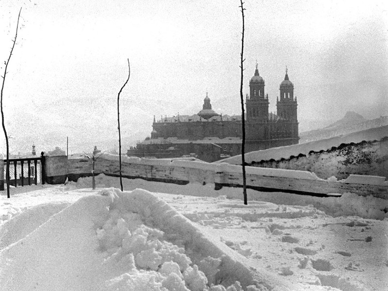
<path id="1" fill-rule="evenodd" d="M 385 125 L 388 125 L 388 116 L 380 116 L 380 118 L 368 120 L 358 113 L 348 111 L 342 119 L 323 129 L 314 129 L 300 132 L 299 143 L 303 144 L 311 141 L 318 141 L 339 135 L 349 134 L 363 129 L 372 129 Z"/>

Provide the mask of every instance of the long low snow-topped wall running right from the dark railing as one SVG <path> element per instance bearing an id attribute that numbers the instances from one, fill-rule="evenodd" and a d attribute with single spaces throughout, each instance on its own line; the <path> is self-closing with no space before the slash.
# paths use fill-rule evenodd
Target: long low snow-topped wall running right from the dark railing
<path id="1" fill-rule="evenodd" d="M 67 160 L 62 157 L 46 157 L 48 183 L 63 183 L 80 177 L 103 173 L 118 177 L 120 167 L 118 156 L 101 155 L 94 162 L 88 159 Z M 67 175 L 64 176 L 64 174 Z M 125 178 L 187 184 L 214 183 L 216 187 L 242 186 L 242 167 L 227 163 L 197 161 L 158 160 L 122 157 L 121 173 Z M 287 169 L 246 167 L 247 186 L 265 191 L 283 191 L 299 194 L 356 193 L 388 199 L 388 183 L 385 178 L 351 176 L 347 180 L 318 178 L 314 173 Z M 59 178 L 58 178 L 59 177 Z M 62 181 L 62 182 L 61 182 Z"/>

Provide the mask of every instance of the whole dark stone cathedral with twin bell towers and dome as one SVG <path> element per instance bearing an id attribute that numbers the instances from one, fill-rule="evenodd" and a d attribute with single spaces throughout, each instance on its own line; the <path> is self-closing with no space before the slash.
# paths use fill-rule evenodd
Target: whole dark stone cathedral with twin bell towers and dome
<path id="1" fill-rule="evenodd" d="M 258 65 L 249 81 L 249 95 L 245 108 L 245 152 L 277 146 L 297 144 L 298 116 L 294 86 L 286 68 L 280 83 L 280 98 L 276 101 L 276 114 L 269 113 L 268 94 L 260 76 Z M 208 93 L 202 110 L 194 115 L 162 117 L 152 124 L 151 137 L 130 148 L 128 156 L 153 158 L 196 157 L 214 162 L 241 154 L 241 115 L 229 116 L 211 109 Z"/>

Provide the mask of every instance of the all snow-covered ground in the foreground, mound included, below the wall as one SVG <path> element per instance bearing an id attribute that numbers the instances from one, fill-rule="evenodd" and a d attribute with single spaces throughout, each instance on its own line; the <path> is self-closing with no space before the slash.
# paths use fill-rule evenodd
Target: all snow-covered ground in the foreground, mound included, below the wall
<path id="1" fill-rule="evenodd" d="M 1 291 L 388 290 L 387 200 L 96 182 L 0 196 Z"/>

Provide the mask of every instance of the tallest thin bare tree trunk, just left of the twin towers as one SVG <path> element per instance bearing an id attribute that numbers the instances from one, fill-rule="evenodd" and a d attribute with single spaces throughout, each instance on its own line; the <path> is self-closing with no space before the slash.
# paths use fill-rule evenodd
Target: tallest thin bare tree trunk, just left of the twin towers
<path id="1" fill-rule="evenodd" d="M 240 83 L 240 98 L 241 98 L 241 119 L 242 119 L 242 145 L 241 145 L 241 158 L 242 158 L 242 193 L 244 195 L 244 204 L 247 205 L 247 195 L 246 195 L 246 173 L 245 173 L 245 113 L 244 113 L 244 97 L 242 96 L 242 79 L 243 79 L 243 62 L 245 59 L 243 58 L 244 53 L 244 8 L 242 7 L 241 2 L 241 13 L 242 13 L 242 38 L 241 38 L 241 83 Z"/>

